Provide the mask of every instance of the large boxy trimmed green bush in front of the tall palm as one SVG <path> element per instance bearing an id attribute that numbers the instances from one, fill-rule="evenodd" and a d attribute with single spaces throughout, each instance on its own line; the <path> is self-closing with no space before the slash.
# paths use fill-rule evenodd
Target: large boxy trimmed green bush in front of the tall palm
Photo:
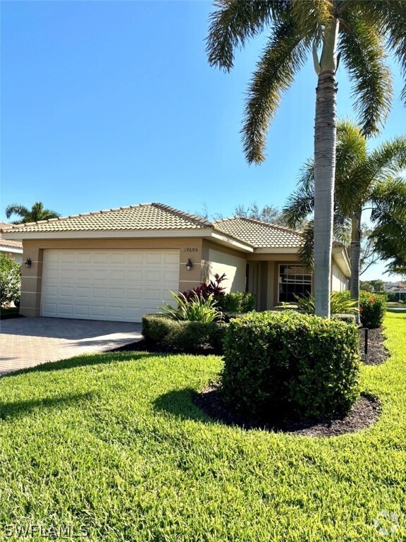
<path id="1" fill-rule="evenodd" d="M 264 421 L 347 411 L 357 399 L 355 325 L 293 311 L 232 320 L 223 342 L 223 397 Z"/>

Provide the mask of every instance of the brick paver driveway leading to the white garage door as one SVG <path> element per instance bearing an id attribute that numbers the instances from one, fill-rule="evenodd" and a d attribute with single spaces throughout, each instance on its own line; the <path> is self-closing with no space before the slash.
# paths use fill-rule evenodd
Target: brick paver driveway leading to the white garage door
<path id="1" fill-rule="evenodd" d="M 142 339 L 141 324 L 128 322 L 11 318 L 0 327 L 0 375 Z"/>

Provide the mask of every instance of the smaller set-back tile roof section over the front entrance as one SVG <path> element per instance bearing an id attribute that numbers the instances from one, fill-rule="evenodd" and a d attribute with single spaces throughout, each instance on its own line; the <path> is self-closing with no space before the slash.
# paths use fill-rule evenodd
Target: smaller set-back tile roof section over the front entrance
<path id="1" fill-rule="evenodd" d="M 255 248 L 299 248 L 303 239 L 300 231 L 246 217 L 219 220 L 214 229 Z"/>

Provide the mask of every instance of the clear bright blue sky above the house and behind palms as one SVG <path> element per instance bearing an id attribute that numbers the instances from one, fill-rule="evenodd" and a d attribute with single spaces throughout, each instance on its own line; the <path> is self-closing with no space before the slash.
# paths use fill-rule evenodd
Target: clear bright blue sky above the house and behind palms
<path id="1" fill-rule="evenodd" d="M 36 200 L 62 215 L 160 202 L 233 215 L 283 205 L 312 155 L 316 76 L 309 62 L 248 166 L 240 127 L 264 43 L 226 74 L 207 64 L 208 1 L 3 1 L 1 206 Z M 338 114 L 352 114 L 338 69 Z M 404 131 L 396 71 L 382 138 Z M 371 148 L 381 138 L 371 142 Z M 379 278 L 383 265 L 365 277 Z M 383 276 L 388 279 L 388 275 Z"/>

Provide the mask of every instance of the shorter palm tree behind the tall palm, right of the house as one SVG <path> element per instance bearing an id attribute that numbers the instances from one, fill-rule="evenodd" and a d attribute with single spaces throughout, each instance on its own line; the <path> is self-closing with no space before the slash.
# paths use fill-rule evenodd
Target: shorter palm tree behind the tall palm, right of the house
<path id="1" fill-rule="evenodd" d="M 379 231 L 388 234 L 389 228 L 395 236 L 394 222 L 406 220 L 406 182 L 400 176 L 404 167 L 405 137 L 382 143 L 368 153 L 367 140 L 361 128 L 350 121 L 338 122 L 333 224 L 336 238 L 351 243 L 351 297 L 355 301 L 359 300 L 362 212 L 367 208 L 371 210 L 371 222 L 374 224 L 372 239 Z M 289 227 L 297 227 L 313 212 L 314 199 L 314 161 L 308 160 L 302 169 L 297 191 L 283 209 Z M 304 233 L 305 244 L 300 255 L 305 265 L 309 266 L 314 235 L 312 222 L 309 222 Z M 395 258 L 396 255 L 393 252 L 390 254 L 389 249 L 386 254 L 382 250 L 379 252 L 386 259 Z"/>

